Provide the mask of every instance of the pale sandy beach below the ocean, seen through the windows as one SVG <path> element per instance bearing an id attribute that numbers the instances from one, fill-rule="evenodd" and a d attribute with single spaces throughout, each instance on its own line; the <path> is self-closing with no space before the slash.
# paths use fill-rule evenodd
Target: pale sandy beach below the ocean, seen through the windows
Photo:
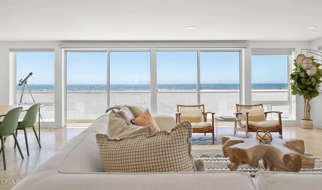
<path id="1" fill-rule="evenodd" d="M 40 102 L 41 115 L 46 121 L 54 118 L 54 93 L 37 92 L 32 93 L 35 102 Z M 253 100 L 287 100 L 285 91 L 258 91 L 253 92 Z M 67 93 L 67 119 L 95 119 L 105 113 L 108 108 L 106 92 L 72 92 Z M 233 116 L 235 104 L 239 103 L 239 92 L 212 91 L 200 94 L 201 103 L 205 104 L 205 110 L 215 112 L 215 116 Z M 17 94 L 20 100 L 20 94 Z M 23 96 L 24 102 L 33 102 L 29 93 Z M 110 106 L 113 105 L 140 105 L 150 108 L 150 93 L 148 92 L 111 92 Z M 177 112 L 177 104 L 197 104 L 196 92 L 158 92 L 157 93 L 157 114 L 174 115 Z M 274 108 L 274 107 L 273 107 Z M 282 111 L 288 116 L 287 106 L 276 106 L 277 111 Z"/>

